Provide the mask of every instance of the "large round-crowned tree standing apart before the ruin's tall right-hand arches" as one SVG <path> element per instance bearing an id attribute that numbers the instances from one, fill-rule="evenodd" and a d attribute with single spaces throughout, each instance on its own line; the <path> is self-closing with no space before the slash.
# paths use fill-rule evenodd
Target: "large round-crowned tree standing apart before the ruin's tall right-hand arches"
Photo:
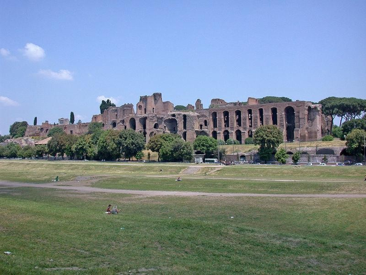
<path id="1" fill-rule="evenodd" d="M 272 153 L 283 142 L 283 134 L 275 125 L 260 126 L 254 132 L 254 144 L 259 145 L 259 157 L 269 161 Z"/>

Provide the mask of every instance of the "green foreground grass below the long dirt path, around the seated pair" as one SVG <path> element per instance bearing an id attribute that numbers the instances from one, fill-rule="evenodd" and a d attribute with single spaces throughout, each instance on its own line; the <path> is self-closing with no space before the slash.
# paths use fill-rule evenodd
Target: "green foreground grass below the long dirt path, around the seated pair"
<path id="1" fill-rule="evenodd" d="M 365 199 L 8 192 L 0 247 L 13 254 L 0 254 L 0 274 L 366 272 Z M 108 203 L 123 213 L 103 214 Z"/>

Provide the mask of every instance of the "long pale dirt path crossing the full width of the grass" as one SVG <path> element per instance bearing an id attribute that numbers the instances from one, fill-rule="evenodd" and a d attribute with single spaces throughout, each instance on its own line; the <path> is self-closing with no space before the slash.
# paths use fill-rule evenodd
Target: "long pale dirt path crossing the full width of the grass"
<path id="1" fill-rule="evenodd" d="M 104 189 L 89 186 L 80 186 L 76 181 L 58 182 L 58 183 L 19 183 L 10 181 L 0 181 L 1 188 L 8 187 L 36 187 L 36 188 L 55 188 L 63 190 L 74 190 L 77 192 L 105 192 L 115 194 L 137 194 L 144 196 L 208 196 L 208 197 L 287 197 L 287 198 L 366 198 L 366 194 L 243 194 L 243 193 L 208 193 L 208 192 L 190 192 L 190 191 L 140 191 L 140 190 L 119 190 Z"/>

